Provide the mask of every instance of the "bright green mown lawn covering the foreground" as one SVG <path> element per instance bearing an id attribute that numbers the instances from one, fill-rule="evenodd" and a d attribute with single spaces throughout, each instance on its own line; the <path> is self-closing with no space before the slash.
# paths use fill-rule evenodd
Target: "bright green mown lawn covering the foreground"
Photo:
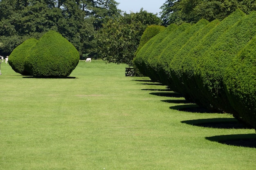
<path id="1" fill-rule="evenodd" d="M 179 111 L 192 104 L 125 67 L 80 61 L 70 79 L 37 79 L 2 63 L 0 170 L 256 169 L 256 148 L 214 141 L 255 130 L 193 126 L 232 116 Z"/>

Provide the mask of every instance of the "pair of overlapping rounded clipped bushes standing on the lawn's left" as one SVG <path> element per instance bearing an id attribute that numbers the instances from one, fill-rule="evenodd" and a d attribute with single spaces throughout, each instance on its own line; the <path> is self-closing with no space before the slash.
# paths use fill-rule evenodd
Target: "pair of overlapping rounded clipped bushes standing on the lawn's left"
<path id="1" fill-rule="evenodd" d="M 17 46 L 9 56 L 9 64 L 21 75 L 65 77 L 79 62 L 79 52 L 60 33 L 48 31 Z"/>

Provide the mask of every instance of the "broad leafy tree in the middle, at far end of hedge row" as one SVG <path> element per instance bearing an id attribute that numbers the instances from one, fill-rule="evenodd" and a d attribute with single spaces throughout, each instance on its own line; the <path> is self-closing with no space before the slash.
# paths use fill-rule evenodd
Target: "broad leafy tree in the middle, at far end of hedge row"
<path id="1" fill-rule="evenodd" d="M 123 16 L 110 18 L 96 35 L 98 54 L 107 62 L 131 66 L 146 27 L 160 23 L 161 20 L 155 14 L 143 9 L 138 13 L 124 13 Z"/>

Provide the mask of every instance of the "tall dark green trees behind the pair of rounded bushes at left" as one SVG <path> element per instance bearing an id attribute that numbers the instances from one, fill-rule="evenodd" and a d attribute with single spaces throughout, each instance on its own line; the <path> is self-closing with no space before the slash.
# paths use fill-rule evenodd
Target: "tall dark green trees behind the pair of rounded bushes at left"
<path id="1" fill-rule="evenodd" d="M 2 0 L 0 51 L 10 54 L 29 38 L 58 31 L 82 54 L 95 55 L 94 33 L 107 17 L 120 15 L 115 0 Z"/>

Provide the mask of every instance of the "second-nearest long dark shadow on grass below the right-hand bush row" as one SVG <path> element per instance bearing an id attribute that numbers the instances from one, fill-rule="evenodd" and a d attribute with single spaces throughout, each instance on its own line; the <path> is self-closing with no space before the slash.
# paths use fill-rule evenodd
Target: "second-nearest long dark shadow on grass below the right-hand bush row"
<path id="1" fill-rule="evenodd" d="M 235 118 L 213 118 L 213 119 L 196 119 L 181 121 L 181 123 L 200 126 L 205 128 L 221 128 L 221 129 L 249 129 L 248 126 L 240 123 Z"/>

